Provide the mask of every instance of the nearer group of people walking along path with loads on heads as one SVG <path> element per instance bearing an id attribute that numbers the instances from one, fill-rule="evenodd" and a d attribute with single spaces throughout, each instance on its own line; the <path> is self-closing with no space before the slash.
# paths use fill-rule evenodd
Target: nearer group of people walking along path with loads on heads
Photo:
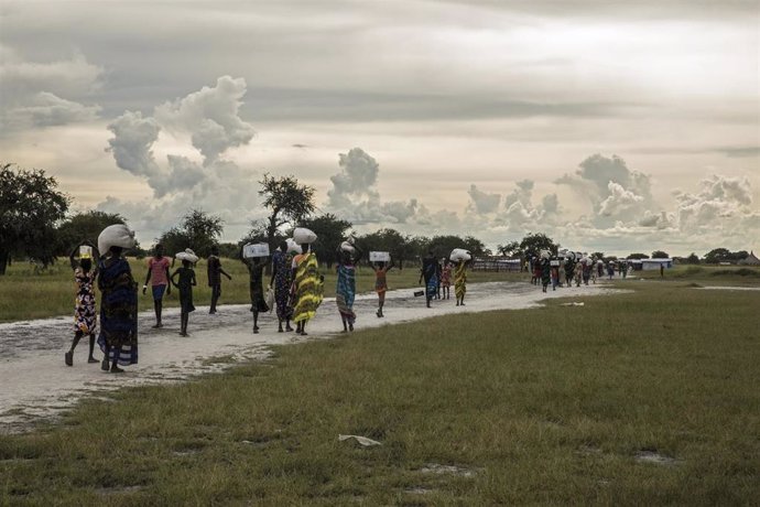
<path id="1" fill-rule="evenodd" d="M 362 251 L 351 244 L 338 248 L 338 263 L 336 268 L 336 303 L 343 322 L 343 331 L 354 331 L 356 313 L 356 269 Z M 90 254 L 82 254 L 89 248 Z M 323 301 L 324 276 L 319 273 L 316 255 L 308 244 L 300 246 L 300 254 L 291 250 L 286 241 L 282 241 L 271 256 L 272 273 L 268 290 L 264 291 L 264 269 L 269 265 L 269 257 L 245 258 L 241 260 L 249 272 L 250 311 L 253 315 L 253 333 L 259 333 L 259 315 L 274 306 L 278 317 L 278 332 L 293 332 L 306 336 L 306 325 L 316 315 Z M 77 259 L 77 251 L 79 252 Z M 123 258 L 123 247 L 110 246 L 101 256 L 89 241 L 77 245 L 69 256 L 76 282 L 75 334 L 69 349 L 64 355 L 65 364 L 73 365 L 74 349 L 85 335 L 89 336 L 88 363 L 98 363 L 94 357 L 95 344 L 104 353 L 100 362 L 104 370 L 121 373 L 121 366 L 138 363 L 138 284 L 134 281 L 129 262 Z M 432 258 L 432 255 L 431 255 Z M 154 255 L 146 262 L 145 281 L 142 293 L 150 293 L 153 299 L 155 313 L 154 328 L 163 327 L 163 298 L 171 294 L 172 288 L 180 293 L 180 335 L 187 336 L 189 314 L 194 312 L 193 287 L 197 285 L 194 262 L 197 257 L 192 250 L 177 254 L 176 259 L 182 266 L 171 272 L 174 260 L 164 256 L 161 244 L 154 247 Z M 433 258 L 434 259 L 434 258 Z M 378 317 L 383 317 L 386 292 L 388 291 L 388 272 L 393 269 L 392 261 L 370 263 L 376 276 L 374 290 L 378 294 Z M 431 269 L 428 258 L 423 261 L 421 279 L 427 284 L 427 305 L 435 291 L 439 296 L 443 285 L 444 298 L 448 298 L 452 265 L 442 267 L 437 261 Z M 464 305 L 465 268 L 460 262 L 455 269 L 455 293 L 457 305 Z M 217 312 L 221 295 L 221 277 L 231 280 L 232 277 L 221 266 L 218 248 L 214 247 L 207 262 L 208 285 L 211 289 L 209 313 Z M 435 281 L 442 280 L 443 283 Z M 432 281 L 433 280 L 433 281 Z M 100 330 L 96 339 L 97 314 L 95 287 L 100 291 Z M 271 292 L 271 294 L 270 294 Z M 295 325 L 292 327 L 291 323 Z"/>

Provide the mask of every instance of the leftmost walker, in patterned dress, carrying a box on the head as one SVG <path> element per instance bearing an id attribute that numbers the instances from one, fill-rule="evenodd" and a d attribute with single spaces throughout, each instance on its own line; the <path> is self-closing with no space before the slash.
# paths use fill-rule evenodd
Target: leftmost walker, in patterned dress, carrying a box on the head
<path id="1" fill-rule="evenodd" d="M 89 254 L 80 254 L 80 247 L 89 247 Z M 79 261 L 75 257 L 79 252 Z M 76 282 L 76 303 L 74 308 L 74 339 L 72 347 L 64 354 L 66 366 L 74 365 L 74 349 L 84 335 L 89 335 L 89 355 L 87 363 L 97 363 L 93 357 L 95 350 L 95 328 L 97 326 L 97 313 L 95 311 L 95 280 L 98 274 L 97 267 L 93 269 L 93 257 L 98 258 L 98 249 L 91 242 L 85 240 L 74 247 L 68 260 L 74 269 Z"/>

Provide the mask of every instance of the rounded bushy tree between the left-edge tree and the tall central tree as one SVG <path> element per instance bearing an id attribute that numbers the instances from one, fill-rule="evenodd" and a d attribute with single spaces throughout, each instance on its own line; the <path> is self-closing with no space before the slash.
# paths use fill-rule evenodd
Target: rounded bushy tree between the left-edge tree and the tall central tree
<path id="1" fill-rule="evenodd" d="M 183 217 L 180 227 L 172 227 L 162 234 L 159 242 L 170 256 L 192 248 L 198 257 L 208 257 L 224 230 L 222 224 L 218 216 L 192 209 Z"/>

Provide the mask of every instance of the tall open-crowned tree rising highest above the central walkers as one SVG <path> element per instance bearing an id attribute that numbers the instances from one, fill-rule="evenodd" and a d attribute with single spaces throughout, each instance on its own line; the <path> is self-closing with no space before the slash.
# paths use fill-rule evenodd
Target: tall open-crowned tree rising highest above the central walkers
<path id="1" fill-rule="evenodd" d="M 314 213 L 314 187 L 298 184 L 295 176 L 274 177 L 264 174 L 259 182 L 262 205 L 271 211 L 267 218 L 267 242 L 270 250 L 276 247 L 276 235 L 281 227 L 297 226 L 298 222 Z"/>

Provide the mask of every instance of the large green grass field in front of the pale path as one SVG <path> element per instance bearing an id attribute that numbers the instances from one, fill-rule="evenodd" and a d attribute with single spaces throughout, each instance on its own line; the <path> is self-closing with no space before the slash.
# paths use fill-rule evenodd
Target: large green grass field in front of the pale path
<path id="1" fill-rule="evenodd" d="M 0 438 L 0 499 L 757 503 L 760 293 L 619 284 L 634 292 L 283 346 L 222 375 L 86 401 L 61 425 Z M 422 472 L 431 464 L 473 475 Z"/>

